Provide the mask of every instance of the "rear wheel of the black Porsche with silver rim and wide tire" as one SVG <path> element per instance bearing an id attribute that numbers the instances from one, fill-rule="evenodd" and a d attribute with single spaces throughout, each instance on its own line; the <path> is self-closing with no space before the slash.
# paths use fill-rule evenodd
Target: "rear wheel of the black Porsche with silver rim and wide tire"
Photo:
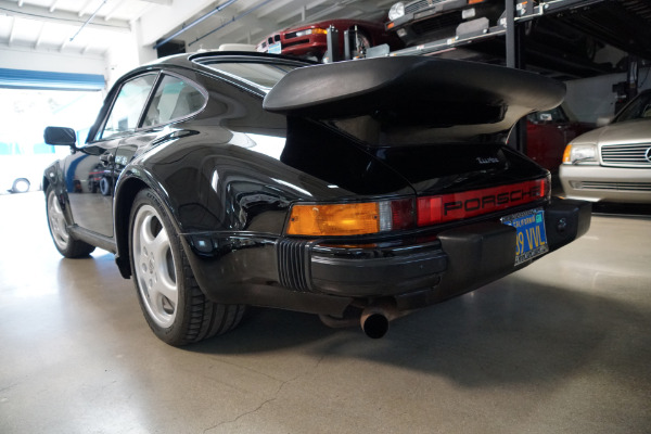
<path id="1" fill-rule="evenodd" d="M 242 320 L 245 306 L 214 303 L 201 291 L 167 210 L 151 189 L 133 200 L 129 253 L 140 307 L 163 342 L 174 346 L 200 342 Z"/>

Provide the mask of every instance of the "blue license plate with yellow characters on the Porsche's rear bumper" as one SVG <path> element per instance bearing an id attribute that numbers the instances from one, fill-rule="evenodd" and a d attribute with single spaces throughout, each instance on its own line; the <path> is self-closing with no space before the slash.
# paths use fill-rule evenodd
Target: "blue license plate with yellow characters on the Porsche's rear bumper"
<path id="1" fill-rule="evenodd" d="M 503 225 L 518 230 L 515 238 L 515 265 L 549 252 L 545 233 L 545 212 L 540 208 L 502 217 Z"/>

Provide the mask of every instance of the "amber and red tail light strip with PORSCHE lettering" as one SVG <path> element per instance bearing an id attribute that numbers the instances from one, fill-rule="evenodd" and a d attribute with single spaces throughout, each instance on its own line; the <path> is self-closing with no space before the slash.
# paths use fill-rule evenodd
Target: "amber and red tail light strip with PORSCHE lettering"
<path id="1" fill-rule="evenodd" d="M 391 232 L 476 217 L 550 195 L 549 178 L 489 189 L 395 201 L 295 204 L 286 233 L 347 237 Z"/>

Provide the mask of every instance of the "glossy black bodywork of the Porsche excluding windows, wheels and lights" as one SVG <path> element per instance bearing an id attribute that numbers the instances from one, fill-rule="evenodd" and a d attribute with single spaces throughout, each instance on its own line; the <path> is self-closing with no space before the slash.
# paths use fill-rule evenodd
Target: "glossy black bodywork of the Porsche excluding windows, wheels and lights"
<path id="1" fill-rule="evenodd" d="M 301 68 L 269 91 L 210 66 L 219 62 Z M 145 127 L 156 85 L 132 131 L 101 139 L 120 87 L 143 74 L 156 75 L 156 84 L 182 79 L 201 108 Z M 349 78 L 357 91 L 337 86 Z M 498 78 L 503 82 L 492 81 Z M 450 104 L 451 117 L 406 117 L 416 111 L 400 91 L 426 94 L 416 106 L 432 107 L 434 117 Z M 414 309 L 531 263 L 514 265 L 516 230 L 500 224 L 506 215 L 545 209 L 550 250 L 585 233 L 589 208 L 550 201 L 540 191 L 548 171 L 506 146 L 519 117 L 557 105 L 563 92 L 562 85 L 528 73 L 420 58 L 311 66 L 263 54 L 179 55 L 123 77 L 87 144 L 49 167 L 43 186 L 55 189 L 71 233 L 116 253 L 125 278 L 133 273 L 131 204 L 149 188 L 162 199 L 199 286 L 214 302 L 332 316 L 376 299 Z M 107 195 L 85 184 L 88 170 L 97 180 L 98 164 L 110 182 Z M 526 182 L 536 182 L 535 197 L 518 187 Z M 407 224 L 394 230 L 290 233 L 298 204 L 401 201 L 413 207 L 419 197 L 445 201 L 468 191 L 478 195 L 444 204 L 469 208 L 461 220 L 418 226 L 409 208 Z"/>

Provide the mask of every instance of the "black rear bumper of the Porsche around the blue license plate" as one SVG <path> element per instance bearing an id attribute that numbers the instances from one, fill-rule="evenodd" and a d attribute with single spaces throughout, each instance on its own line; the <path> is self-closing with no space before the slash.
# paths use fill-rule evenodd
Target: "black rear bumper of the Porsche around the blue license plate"
<path id="1" fill-rule="evenodd" d="M 549 250 L 587 232 L 587 202 L 552 200 L 545 208 Z M 481 222 L 443 231 L 436 241 L 398 247 L 328 247 L 309 250 L 307 281 L 311 291 L 354 297 L 405 296 L 432 291 L 430 302 L 472 291 L 515 271 L 515 229 Z M 531 261 L 529 261 L 531 263 Z M 412 306 L 414 307 L 414 306 Z"/>

